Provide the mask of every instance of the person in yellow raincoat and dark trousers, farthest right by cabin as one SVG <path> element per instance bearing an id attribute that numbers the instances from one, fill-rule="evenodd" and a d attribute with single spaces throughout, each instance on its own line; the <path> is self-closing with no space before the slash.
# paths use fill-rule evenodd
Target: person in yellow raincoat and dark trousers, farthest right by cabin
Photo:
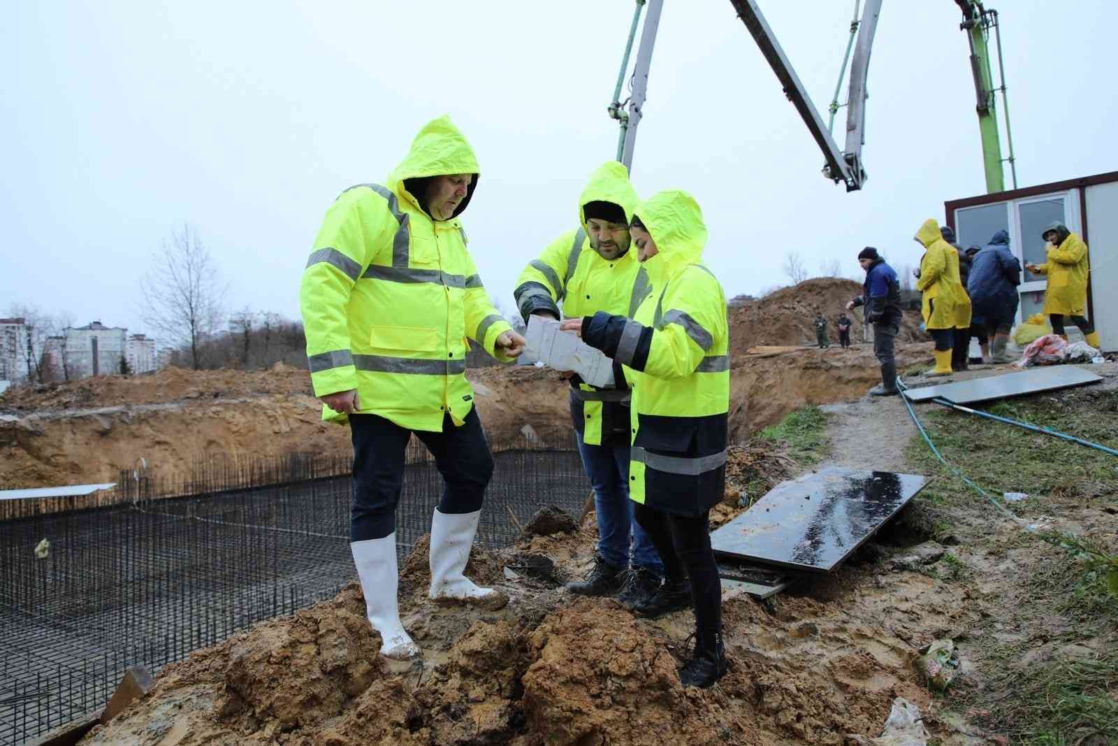
<path id="1" fill-rule="evenodd" d="M 1034 274 L 1048 275 L 1048 290 L 1044 293 L 1044 313 L 1049 314 L 1052 331 L 1064 339 L 1063 318 L 1071 317 L 1071 323 L 1083 332 L 1088 344 L 1099 348 L 1099 332 L 1095 324 L 1087 320 L 1087 278 L 1089 266 L 1087 244 L 1079 234 L 1068 230 L 1062 223 L 1053 223 L 1044 228 L 1044 264 L 1026 264 L 1025 267 Z"/>

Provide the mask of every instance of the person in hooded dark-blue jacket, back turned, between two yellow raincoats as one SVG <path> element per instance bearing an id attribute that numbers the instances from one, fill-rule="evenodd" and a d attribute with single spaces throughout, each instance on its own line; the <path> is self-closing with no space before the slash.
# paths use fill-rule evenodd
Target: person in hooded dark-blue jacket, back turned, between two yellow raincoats
<path id="1" fill-rule="evenodd" d="M 998 230 L 975 254 L 967 280 L 967 293 L 974 314 L 983 319 L 986 333 L 993 339 L 992 362 L 1010 362 L 1005 347 L 1010 328 L 1017 318 L 1021 296 L 1021 262 L 1010 251 L 1010 234 Z"/>

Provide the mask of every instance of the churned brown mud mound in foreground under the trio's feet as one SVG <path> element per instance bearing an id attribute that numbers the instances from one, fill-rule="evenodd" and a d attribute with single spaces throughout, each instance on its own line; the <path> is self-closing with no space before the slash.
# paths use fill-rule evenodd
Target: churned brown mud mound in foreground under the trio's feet
<path id="1" fill-rule="evenodd" d="M 426 545 L 417 546 L 400 608 L 421 668 L 396 670 L 377 655 L 351 584 L 165 667 L 149 696 L 83 743 L 839 746 L 844 734 L 880 733 L 894 697 L 926 714 L 936 706 L 912 660 L 967 616 L 947 586 L 903 572 L 875 580 L 855 564 L 768 611 L 729 597 L 730 671 L 712 689 L 684 690 L 675 669 L 690 611 L 638 620 L 612 599 L 501 572 L 539 549 L 566 574 L 581 572 L 591 522 L 502 553 L 475 548 L 470 572 L 511 596 L 498 612 L 433 605 Z"/>

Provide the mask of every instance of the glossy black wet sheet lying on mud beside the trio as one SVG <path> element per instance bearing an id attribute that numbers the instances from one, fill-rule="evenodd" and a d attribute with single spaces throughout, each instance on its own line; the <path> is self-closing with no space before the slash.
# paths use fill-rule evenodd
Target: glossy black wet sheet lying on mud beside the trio
<path id="1" fill-rule="evenodd" d="M 903 508 L 927 478 L 823 469 L 773 488 L 710 535 L 717 557 L 830 573 Z"/>

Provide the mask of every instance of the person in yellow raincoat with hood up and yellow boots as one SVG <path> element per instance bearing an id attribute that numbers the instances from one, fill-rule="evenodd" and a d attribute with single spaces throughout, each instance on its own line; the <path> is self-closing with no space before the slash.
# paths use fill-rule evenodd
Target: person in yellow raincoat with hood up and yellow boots
<path id="1" fill-rule="evenodd" d="M 970 299 L 959 280 L 958 252 L 944 240 L 936 219 L 925 220 L 915 239 L 925 247 L 916 283 L 923 327 L 936 342 L 936 367 L 925 375 L 949 376 L 955 330 L 970 325 Z"/>

